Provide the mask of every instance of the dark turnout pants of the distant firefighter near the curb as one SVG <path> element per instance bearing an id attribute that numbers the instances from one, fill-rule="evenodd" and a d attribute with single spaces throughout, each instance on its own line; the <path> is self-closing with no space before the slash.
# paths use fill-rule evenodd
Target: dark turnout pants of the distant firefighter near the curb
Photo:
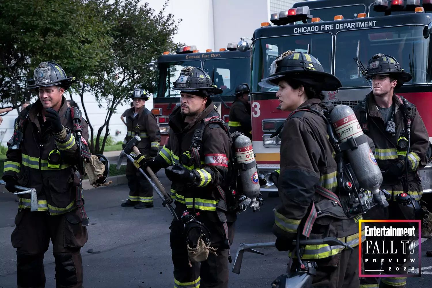
<path id="1" fill-rule="evenodd" d="M 153 204 L 153 187 L 132 163 L 126 166 L 127 186 L 129 186 L 129 200 L 133 203 L 143 202 Z"/>

